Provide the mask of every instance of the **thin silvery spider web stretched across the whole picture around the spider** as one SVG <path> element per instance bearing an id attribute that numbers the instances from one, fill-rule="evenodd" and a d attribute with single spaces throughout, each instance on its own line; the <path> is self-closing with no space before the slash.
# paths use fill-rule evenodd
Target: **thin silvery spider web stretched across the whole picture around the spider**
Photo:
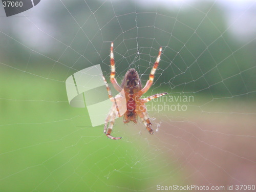
<path id="1" fill-rule="evenodd" d="M 0 8 L 1 191 L 255 185 L 255 9 L 57 0 L 5 17 Z M 163 48 L 144 95 L 168 93 L 147 103 L 154 135 L 119 118 L 113 136 L 122 139 L 107 139 L 86 108 L 69 105 L 65 81 L 77 71 L 100 64 L 110 82 L 111 41 L 119 83 L 135 68 L 145 85 Z"/>

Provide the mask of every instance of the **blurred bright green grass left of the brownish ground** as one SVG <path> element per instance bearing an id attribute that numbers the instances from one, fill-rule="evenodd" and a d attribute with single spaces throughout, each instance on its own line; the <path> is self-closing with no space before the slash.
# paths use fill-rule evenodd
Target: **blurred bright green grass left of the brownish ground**
<path id="1" fill-rule="evenodd" d="M 125 136 L 119 141 L 92 127 L 87 110 L 67 102 L 65 82 L 17 70 L 0 80 L 0 191 L 155 191 L 182 183 L 173 160 L 132 125 L 116 129 Z"/>

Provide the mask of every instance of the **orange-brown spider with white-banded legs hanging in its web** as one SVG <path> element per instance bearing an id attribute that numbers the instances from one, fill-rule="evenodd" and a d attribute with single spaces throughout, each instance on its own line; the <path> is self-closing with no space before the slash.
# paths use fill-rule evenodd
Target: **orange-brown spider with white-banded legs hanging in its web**
<path id="1" fill-rule="evenodd" d="M 160 61 L 160 56 L 162 52 L 162 47 L 159 48 L 159 53 L 156 59 L 156 62 L 151 70 L 150 73 L 150 78 L 147 80 L 146 85 L 144 88 L 142 88 L 141 80 L 139 78 L 139 74 L 135 69 L 130 69 L 129 71 L 126 72 L 121 86 L 119 86 L 117 80 L 115 79 L 115 60 L 114 60 L 114 53 L 113 53 L 113 45 L 114 42 L 111 42 L 111 48 L 110 48 L 110 65 L 111 65 L 111 74 L 110 74 L 110 81 L 113 84 L 114 88 L 119 92 L 119 93 L 124 93 L 124 95 L 119 95 L 117 97 L 113 97 L 111 94 L 110 87 L 108 83 L 106 82 L 106 79 L 104 76 L 102 76 L 105 85 L 106 85 L 106 90 L 108 91 L 109 98 L 113 102 L 112 108 L 108 114 L 108 116 L 105 119 L 105 126 L 104 126 L 104 133 L 106 133 L 106 136 L 111 139 L 121 139 L 121 137 L 113 137 L 111 135 L 113 125 L 115 122 L 116 116 L 121 117 L 123 115 L 123 122 L 128 123 L 130 121 L 133 121 L 134 123 L 137 123 L 138 116 L 142 119 L 143 123 L 146 126 L 147 131 L 150 134 L 153 134 L 152 130 L 152 123 L 147 115 L 146 111 L 146 106 L 145 103 L 150 101 L 151 99 L 163 96 L 167 93 L 160 93 L 156 95 L 152 95 L 147 98 L 142 98 L 140 97 L 150 89 L 150 87 L 153 84 L 154 80 L 154 75 L 156 72 L 156 69 L 158 67 L 159 61 Z M 124 97 L 125 96 L 125 97 Z M 121 100 L 125 98 L 125 111 L 120 112 L 120 104 Z M 121 106 L 122 107 L 122 106 Z M 109 127 L 108 127 L 109 123 Z"/>

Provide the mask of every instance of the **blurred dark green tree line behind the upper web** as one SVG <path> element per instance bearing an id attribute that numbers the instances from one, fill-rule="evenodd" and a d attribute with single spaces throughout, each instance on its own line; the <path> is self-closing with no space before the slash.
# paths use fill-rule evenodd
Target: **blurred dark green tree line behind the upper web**
<path id="1" fill-rule="evenodd" d="M 108 75 L 110 41 L 114 40 L 118 80 L 133 67 L 145 83 L 162 46 L 158 86 L 214 97 L 255 90 L 255 41 L 243 46 L 244 42 L 234 38 L 227 30 L 224 10 L 212 2 L 201 1 L 180 10 L 143 7 L 135 1 L 70 1 L 65 6 L 56 1 L 41 18 L 55 30 L 57 41 L 50 38 L 54 46 L 44 48 L 43 54 L 65 65 L 54 71 L 65 74 L 60 80 L 97 64 Z M 11 30 L 10 36 L 22 38 Z M 9 59 L 2 62 L 24 65 L 30 57 L 29 65 L 58 66 L 40 54 L 31 57 L 30 49 L 11 38 L 0 41 L 1 55 Z"/>

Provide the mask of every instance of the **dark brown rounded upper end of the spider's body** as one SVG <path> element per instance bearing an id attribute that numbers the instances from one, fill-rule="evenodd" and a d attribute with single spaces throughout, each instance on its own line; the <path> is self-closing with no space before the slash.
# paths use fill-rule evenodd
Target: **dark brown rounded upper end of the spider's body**
<path id="1" fill-rule="evenodd" d="M 142 87 L 138 72 L 135 69 L 127 71 L 121 86 L 127 93 L 137 93 L 140 91 Z"/>

